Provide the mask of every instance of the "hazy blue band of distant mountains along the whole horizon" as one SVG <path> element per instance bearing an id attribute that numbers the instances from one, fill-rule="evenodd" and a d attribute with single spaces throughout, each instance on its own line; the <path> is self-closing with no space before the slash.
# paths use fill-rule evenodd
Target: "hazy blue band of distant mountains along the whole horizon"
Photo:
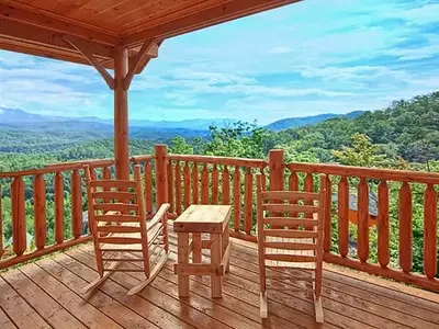
<path id="1" fill-rule="evenodd" d="M 320 114 L 314 116 L 304 117 L 290 117 L 275 121 L 264 127 L 269 131 L 282 131 L 288 128 L 296 128 L 305 125 L 312 125 L 323 122 L 333 117 L 357 117 L 362 111 L 354 111 L 348 114 Z M 227 126 L 230 123 L 236 122 L 232 118 L 194 118 L 184 121 L 149 121 L 149 120 L 131 120 L 130 125 L 137 128 L 150 128 L 150 129 L 189 129 L 189 131 L 207 131 L 210 125 L 216 125 L 218 127 Z M 112 129 L 112 120 L 102 120 L 95 116 L 82 116 L 82 117 L 66 117 L 66 116 L 49 116 L 25 112 L 18 109 L 0 107 L 0 125 L 13 126 L 21 128 L 50 128 L 53 124 L 57 123 L 60 126 L 68 126 L 72 128 L 93 128 L 93 129 Z"/>

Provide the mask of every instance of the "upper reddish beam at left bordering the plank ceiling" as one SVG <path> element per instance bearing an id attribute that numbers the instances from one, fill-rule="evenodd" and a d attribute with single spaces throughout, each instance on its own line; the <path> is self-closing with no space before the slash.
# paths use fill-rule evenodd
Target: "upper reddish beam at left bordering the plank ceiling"
<path id="1" fill-rule="evenodd" d="M 108 45 L 115 45 L 117 43 L 117 38 L 115 36 L 103 34 L 90 29 L 82 27 L 80 25 L 74 25 L 58 19 L 43 16 L 42 14 L 26 11 L 12 4 L 0 3 L 0 18 L 3 18 L 5 20 L 25 22 L 35 26 L 66 33 L 69 35 L 76 35 L 82 38 L 97 41 Z"/>

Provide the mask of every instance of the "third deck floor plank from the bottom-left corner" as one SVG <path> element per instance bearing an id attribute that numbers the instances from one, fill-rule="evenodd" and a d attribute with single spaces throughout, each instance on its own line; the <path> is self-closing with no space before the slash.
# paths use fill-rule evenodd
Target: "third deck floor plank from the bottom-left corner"
<path id="1" fill-rule="evenodd" d="M 19 270 L 2 274 L 3 279 L 31 305 L 53 328 L 87 328 L 61 305 L 47 295 Z"/>

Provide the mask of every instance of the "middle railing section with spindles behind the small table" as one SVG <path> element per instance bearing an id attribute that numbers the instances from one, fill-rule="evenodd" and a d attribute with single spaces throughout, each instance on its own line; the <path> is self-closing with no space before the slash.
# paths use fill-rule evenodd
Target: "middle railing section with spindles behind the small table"
<path id="1" fill-rule="evenodd" d="M 256 173 L 264 177 L 268 162 L 207 156 L 167 156 L 167 200 L 173 217 L 191 204 L 233 205 L 230 235 L 256 241 Z"/>

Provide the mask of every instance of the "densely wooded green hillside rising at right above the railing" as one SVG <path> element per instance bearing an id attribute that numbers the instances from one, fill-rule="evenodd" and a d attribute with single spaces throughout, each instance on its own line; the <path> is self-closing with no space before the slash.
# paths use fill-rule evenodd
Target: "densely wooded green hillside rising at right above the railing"
<path id="1" fill-rule="evenodd" d="M 368 135 L 390 156 L 407 161 L 439 159 L 439 91 L 412 100 L 395 101 L 384 110 L 365 112 L 354 118 L 336 117 L 313 126 L 288 129 L 300 149 L 340 149 L 353 134 Z"/>

